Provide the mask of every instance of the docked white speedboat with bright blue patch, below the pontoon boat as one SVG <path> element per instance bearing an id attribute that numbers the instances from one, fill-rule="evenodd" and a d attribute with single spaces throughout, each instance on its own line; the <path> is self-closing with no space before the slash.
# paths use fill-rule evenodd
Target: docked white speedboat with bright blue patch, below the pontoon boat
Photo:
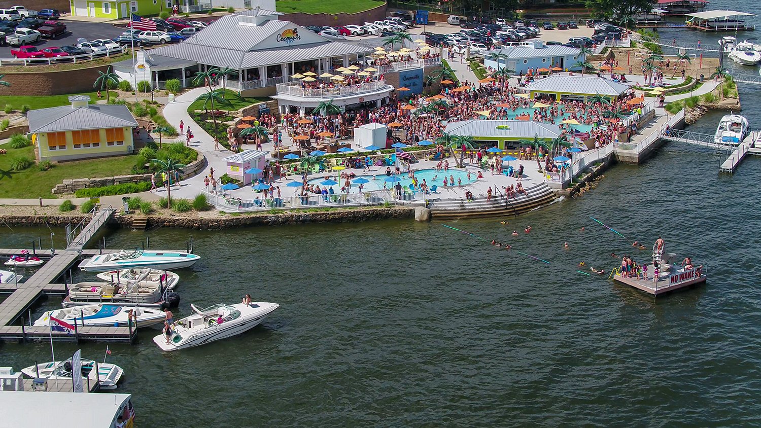
<path id="1" fill-rule="evenodd" d="M 142 308 L 140 306 L 124 307 L 114 305 L 84 305 L 71 308 L 56 309 L 43 313 L 35 327 L 47 327 L 50 325 L 50 317 L 60 319 L 69 324 L 90 325 L 97 327 L 126 327 L 129 320 L 129 311 L 137 318 L 137 327 L 158 324 L 167 318 L 167 315 L 158 308 Z"/>

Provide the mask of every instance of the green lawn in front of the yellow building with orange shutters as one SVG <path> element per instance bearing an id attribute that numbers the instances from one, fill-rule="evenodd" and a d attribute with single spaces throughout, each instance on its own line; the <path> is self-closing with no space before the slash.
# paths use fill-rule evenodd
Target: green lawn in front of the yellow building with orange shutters
<path id="1" fill-rule="evenodd" d="M 40 171 L 37 165 L 23 171 L 11 171 L 14 157 L 34 159 L 34 147 L 12 149 L 3 144 L 3 148 L 8 154 L 0 156 L 0 198 L 57 198 L 50 190 L 64 179 L 125 175 L 132 173 L 135 165 L 135 155 L 128 155 L 56 163 L 47 171 Z"/>

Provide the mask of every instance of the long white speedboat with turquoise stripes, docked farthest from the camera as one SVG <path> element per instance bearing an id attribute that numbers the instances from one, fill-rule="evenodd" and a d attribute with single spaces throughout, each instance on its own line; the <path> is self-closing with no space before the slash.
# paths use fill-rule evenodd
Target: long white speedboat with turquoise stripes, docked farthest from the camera
<path id="1" fill-rule="evenodd" d="M 85 272 L 116 271 L 129 268 L 179 269 L 188 268 L 200 259 L 201 256 L 188 252 L 154 252 L 138 248 L 85 258 L 79 264 L 79 268 Z"/>

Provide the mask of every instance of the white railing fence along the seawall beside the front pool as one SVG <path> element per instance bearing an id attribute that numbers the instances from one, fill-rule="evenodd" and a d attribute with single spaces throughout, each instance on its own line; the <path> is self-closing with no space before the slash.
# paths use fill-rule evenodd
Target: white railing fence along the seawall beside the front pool
<path id="1" fill-rule="evenodd" d="M 363 205 L 383 204 L 409 204 L 414 201 L 422 201 L 424 195 L 418 191 L 404 189 L 402 192 L 395 190 L 377 190 L 362 193 L 341 193 L 336 195 L 304 195 L 286 198 L 256 198 L 238 201 L 228 195 L 215 195 L 205 192 L 209 203 L 220 211 L 250 212 L 268 210 L 294 210 L 309 208 L 341 208 L 358 207 Z"/>

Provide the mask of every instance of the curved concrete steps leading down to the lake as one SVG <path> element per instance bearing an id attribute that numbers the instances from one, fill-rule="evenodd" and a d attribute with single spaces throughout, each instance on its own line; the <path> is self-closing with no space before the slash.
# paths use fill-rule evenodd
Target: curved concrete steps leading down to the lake
<path id="1" fill-rule="evenodd" d="M 431 202 L 431 217 L 434 220 L 453 220 L 460 218 L 501 217 L 505 215 L 522 214 L 540 205 L 548 204 L 556 198 L 555 191 L 544 183 L 533 185 L 526 189 L 528 195 L 505 201 L 501 195 L 486 201 L 486 198 L 476 198 L 466 201 L 465 198 L 448 199 Z"/>

